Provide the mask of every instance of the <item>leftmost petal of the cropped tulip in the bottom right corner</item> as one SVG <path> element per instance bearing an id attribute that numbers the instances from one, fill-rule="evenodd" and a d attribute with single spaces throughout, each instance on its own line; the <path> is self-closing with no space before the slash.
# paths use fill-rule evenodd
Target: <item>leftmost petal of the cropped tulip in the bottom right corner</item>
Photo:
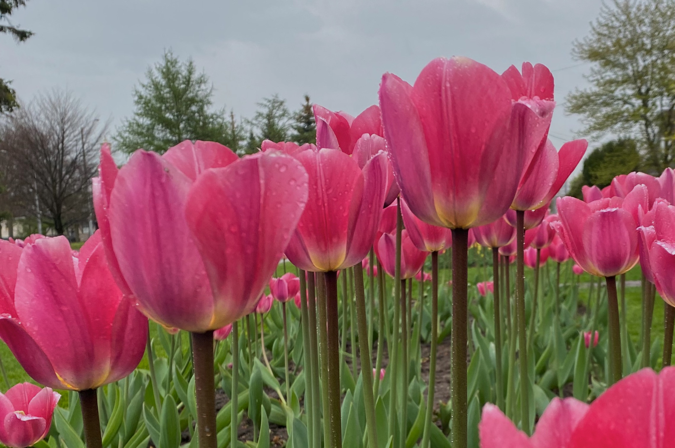
<path id="1" fill-rule="evenodd" d="M 478 430 L 481 448 L 533 448 L 525 433 L 493 404 L 483 406 Z"/>

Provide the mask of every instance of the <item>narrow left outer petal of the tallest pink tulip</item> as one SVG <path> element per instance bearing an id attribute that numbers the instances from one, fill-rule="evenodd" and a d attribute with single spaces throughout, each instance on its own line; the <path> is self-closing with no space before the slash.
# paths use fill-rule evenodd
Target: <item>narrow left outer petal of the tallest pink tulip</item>
<path id="1" fill-rule="evenodd" d="M 389 158 L 410 210 L 429 224 L 442 226 L 433 203 L 429 151 L 420 115 L 410 98 L 410 84 L 385 73 L 379 90 Z"/>

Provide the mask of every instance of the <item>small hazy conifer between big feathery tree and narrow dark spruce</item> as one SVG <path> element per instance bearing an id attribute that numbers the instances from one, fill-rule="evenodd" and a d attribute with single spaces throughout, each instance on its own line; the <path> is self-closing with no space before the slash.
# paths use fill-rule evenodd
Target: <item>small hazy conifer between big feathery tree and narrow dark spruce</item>
<path id="1" fill-rule="evenodd" d="M 274 94 L 258 103 L 259 109 L 252 119 L 246 141 L 246 154 L 252 154 L 260 148 L 263 140 L 287 141 L 290 137 L 292 115 L 286 106 L 286 100 Z"/>

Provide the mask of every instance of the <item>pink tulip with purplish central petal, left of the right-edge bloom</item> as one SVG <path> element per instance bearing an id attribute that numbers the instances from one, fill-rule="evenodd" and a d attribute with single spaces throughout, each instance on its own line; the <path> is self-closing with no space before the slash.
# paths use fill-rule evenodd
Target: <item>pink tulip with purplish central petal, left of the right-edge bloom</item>
<path id="1" fill-rule="evenodd" d="M 647 188 L 635 187 L 624 199 L 585 203 L 558 198 L 559 221 L 551 222 L 578 265 L 589 274 L 612 277 L 629 271 L 638 261 L 637 209 L 647 210 Z"/>

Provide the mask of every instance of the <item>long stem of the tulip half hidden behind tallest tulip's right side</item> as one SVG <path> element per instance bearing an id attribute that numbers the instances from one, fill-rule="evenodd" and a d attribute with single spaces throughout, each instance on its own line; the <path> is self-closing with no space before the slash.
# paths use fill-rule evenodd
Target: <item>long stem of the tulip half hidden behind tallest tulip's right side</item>
<path id="1" fill-rule="evenodd" d="M 525 212 L 516 210 L 516 317 L 518 320 L 518 366 L 520 368 L 520 428 L 530 435 L 530 380 L 527 371 L 527 335 L 525 333 Z"/>

